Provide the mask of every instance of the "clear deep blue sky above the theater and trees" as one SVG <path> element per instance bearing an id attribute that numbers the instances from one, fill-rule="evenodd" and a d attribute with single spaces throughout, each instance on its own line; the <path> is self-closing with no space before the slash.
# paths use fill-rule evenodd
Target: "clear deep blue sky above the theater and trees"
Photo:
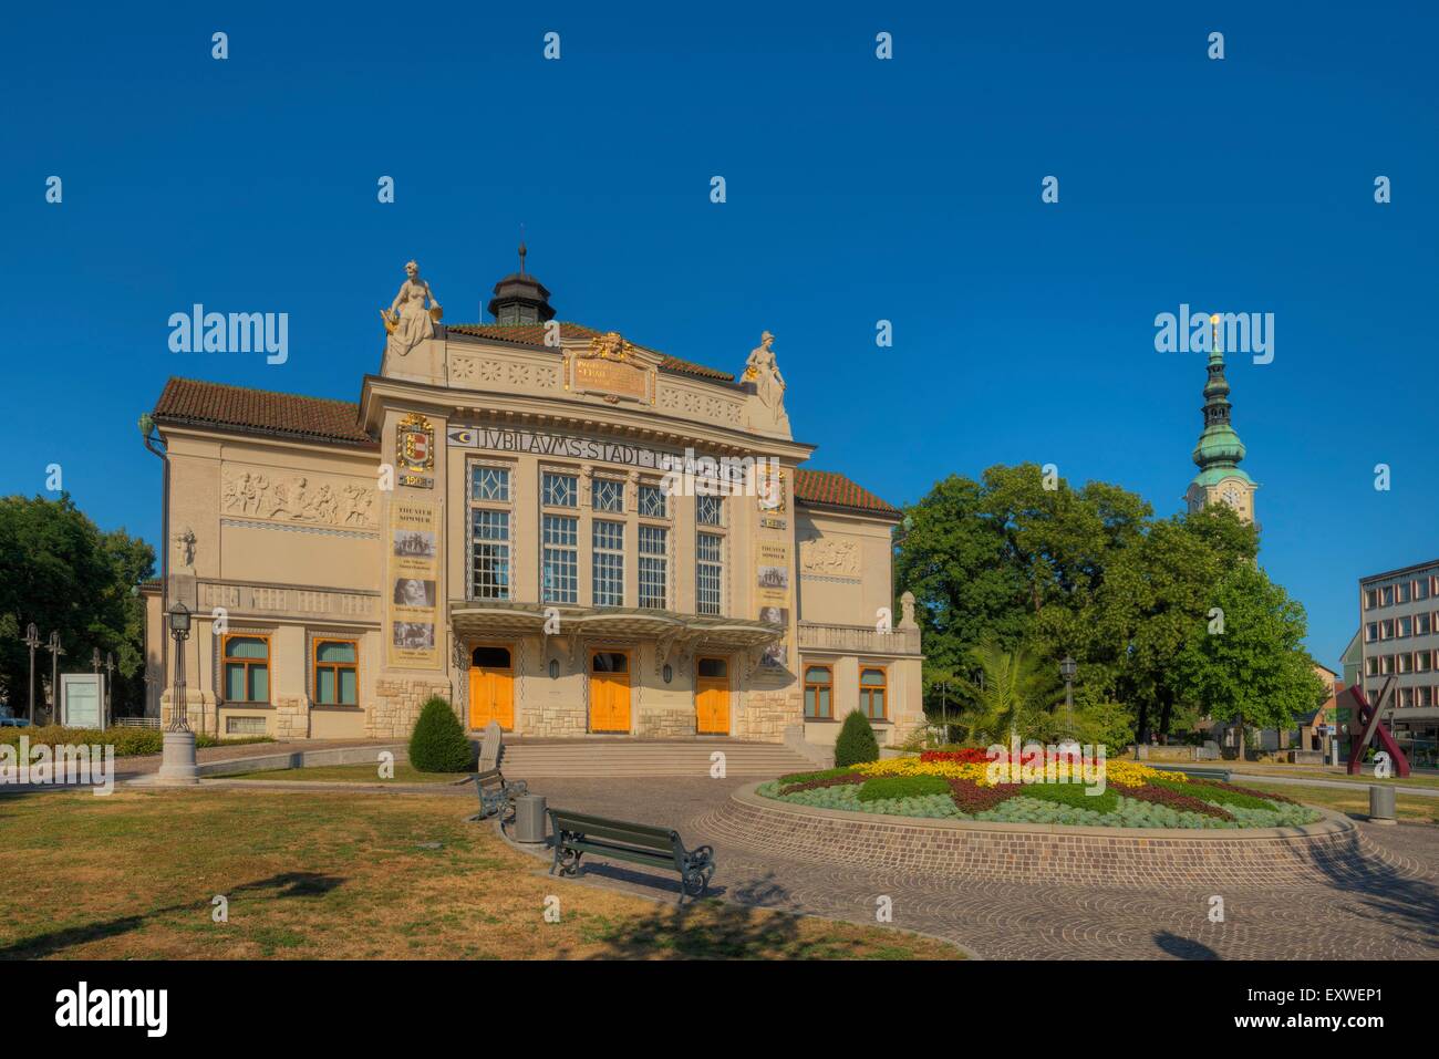
<path id="1" fill-rule="evenodd" d="M 773 331 L 813 466 L 892 502 L 1035 460 L 1171 514 L 1204 370 L 1156 314 L 1274 312 L 1229 378 L 1311 650 L 1361 574 L 1439 557 L 1432 6 L 514 7 L 10 12 L 0 494 L 60 463 L 154 541 L 170 374 L 354 400 L 400 266 L 478 319 L 522 222 L 563 319 L 728 370 Z M 193 302 L 288 312 L 289 363 L 171 354 Z"/>

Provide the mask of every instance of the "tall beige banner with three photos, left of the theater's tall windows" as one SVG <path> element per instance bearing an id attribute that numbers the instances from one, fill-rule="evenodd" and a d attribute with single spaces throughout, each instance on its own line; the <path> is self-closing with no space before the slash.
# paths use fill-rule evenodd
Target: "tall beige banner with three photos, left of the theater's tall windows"
<path id="1" fill-rule="evenodd" d="M 390 576 L 384 587 L 391 666 L 437 669 L 440 519 L 430 501 L 390 504 Z"/>

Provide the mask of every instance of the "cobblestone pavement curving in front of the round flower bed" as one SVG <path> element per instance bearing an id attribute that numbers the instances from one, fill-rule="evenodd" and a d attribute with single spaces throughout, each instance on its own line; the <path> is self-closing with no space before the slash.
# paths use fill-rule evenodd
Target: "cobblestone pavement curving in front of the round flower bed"
<path id="1" fill-rule="evenodd" d="M 1209 892 L 1134 886 L 986 882 L 885 873 L 776 856 L 745 845 L 721 809 L 743 780 L 547 778 L 531 784 L 551 807 L 676 827 L 715 847 L 711 892 L 745 905 L 894 925 L 958 942 L 981 958 L 1045 960 L 1435 960 L 1439 958 L 1439 827 L 1361 823 L 1370 872 L 1325 875 L 1284 889 Z M 586 881 L 648 896 L 678 896 L 676 881 L 586 859 Z"/>

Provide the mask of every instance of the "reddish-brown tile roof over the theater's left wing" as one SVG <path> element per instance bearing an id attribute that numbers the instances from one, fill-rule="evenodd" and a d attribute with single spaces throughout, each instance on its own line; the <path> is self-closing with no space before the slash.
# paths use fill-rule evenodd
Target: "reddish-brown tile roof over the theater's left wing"
<path id="1" fill-rule="evenodd" d="M 328 397 L 250 390 L 243 386 L 171 378 L 155 403 L 157 423 L 259 430 L 301 440 L 373 446 L 360 426 L 360 406 Z"/>

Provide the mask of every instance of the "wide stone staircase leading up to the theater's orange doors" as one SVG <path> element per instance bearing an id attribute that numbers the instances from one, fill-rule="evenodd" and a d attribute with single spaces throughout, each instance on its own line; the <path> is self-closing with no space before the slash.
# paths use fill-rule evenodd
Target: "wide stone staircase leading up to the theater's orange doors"
<path id="1" fill-rule="evenodd" d="M 817 764 L 778 742 L 734 740 L 507 740 L 499 758 L 505 778 L 534 776 L 692 776 L 707 778 L 711 754 L 725 755 L 730 778 L 773 780 L 786 773 L 812 773 Z"/>

